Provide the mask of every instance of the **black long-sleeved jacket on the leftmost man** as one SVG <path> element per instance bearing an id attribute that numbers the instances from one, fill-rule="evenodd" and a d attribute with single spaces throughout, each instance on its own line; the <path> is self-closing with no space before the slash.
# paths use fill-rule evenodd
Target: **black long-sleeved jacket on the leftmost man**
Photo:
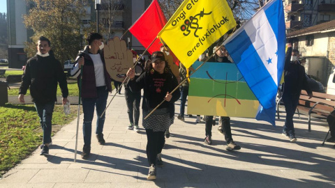
<path id="1" fill-rule="evenodd" d="M 57 84 L 63 97 L 68 97 L 66 75 L 54 56 L 36 56 L 27 61 L 19 94 L 26 94 L 30 86 L 31 100 L 45 104 L 57 101 Z"/>

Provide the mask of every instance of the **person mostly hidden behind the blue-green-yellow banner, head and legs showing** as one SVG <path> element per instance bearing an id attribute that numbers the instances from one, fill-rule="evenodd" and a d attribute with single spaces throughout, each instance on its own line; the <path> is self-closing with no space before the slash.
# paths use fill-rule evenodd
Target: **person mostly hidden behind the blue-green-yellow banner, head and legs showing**
<path id="1" fill-rule="evenodd" d="M 221 47 L 220 45 L 214 47 L 214 50 L 218 49 L 218 47 Z M 228 59 L 228 52 L 225 47 L 221 47 L 221 49 L 218 49 L 216 51 L 216 54 L 209 59 L 209 62 L 218 62 L 218 63 L 232 63 Z M 218 132 L 225 135 L 225 141 L 227 141 L 227 148 L 226 150 L 239 150 L 241 149 L 241 146 L 238 146 L 236 143 L 234 143 L 232 139 L 232 130 L 230 127 L 230 117 L 223 117 L 221 116 L 221 122 L 222 126 L 218 128 Z M 206 125 L 206 138 L 204 139 L 204 143 L 211 145 L 211 127 L 213 126 L 213 116 L 206 116 L 205 118 L 205 125 Z"/>

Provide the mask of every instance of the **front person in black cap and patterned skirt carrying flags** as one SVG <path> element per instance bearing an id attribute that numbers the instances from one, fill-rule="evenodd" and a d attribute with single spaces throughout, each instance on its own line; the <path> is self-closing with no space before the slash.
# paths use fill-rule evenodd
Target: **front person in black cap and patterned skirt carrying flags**
<path id="1" fill-rule="evenodd" d="M 169 69 L 168 62 L 165 61 L 164 52 L 154 52 L 149 61 L 146 72 L 135 79 L 135 71 L 129 69 L 127 77 L 131 91 L 140 91 L 143 88 L 143 127 L 147 133 L 147 157 L 149 162 L 149 173 L 147 180 L 156 179 L 156 166 L 163 166 L 161 152 L 165 143 L 164 133 L 171 125 L 170 112 L 172 106 L 180 97 L 179 90 L 173 94 L 170 92 L 178 86 L 177 78 Z M 154 111 L 147 119 L 144 119 L 163 100 L 160 107 Z"/>

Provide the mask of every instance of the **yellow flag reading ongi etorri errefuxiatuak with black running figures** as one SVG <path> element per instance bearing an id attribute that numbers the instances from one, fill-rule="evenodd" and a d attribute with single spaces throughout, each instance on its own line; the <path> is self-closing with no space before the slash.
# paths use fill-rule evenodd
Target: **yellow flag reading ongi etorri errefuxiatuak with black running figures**
<path id="1" fill-rule="evenodd" d="M 189 68 L 200 54 L 236 26 L 225 0 L 185 0 L 158 37 Z"/>

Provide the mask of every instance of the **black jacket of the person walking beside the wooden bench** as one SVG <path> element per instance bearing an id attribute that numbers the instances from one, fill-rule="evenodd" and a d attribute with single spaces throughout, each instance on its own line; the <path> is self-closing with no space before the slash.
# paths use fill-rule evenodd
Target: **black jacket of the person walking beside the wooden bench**
<path id="1" fill-rule="evenodd" d="M 301 93 L 301 89 L 306 90 L 307 93 L 312 93 L 305 76 L 305 68 L 300 63 L 291 62 L 291 56 L 292 47 L 289 47 L 285 56 L 284 93 L 297 95 Z"/>

